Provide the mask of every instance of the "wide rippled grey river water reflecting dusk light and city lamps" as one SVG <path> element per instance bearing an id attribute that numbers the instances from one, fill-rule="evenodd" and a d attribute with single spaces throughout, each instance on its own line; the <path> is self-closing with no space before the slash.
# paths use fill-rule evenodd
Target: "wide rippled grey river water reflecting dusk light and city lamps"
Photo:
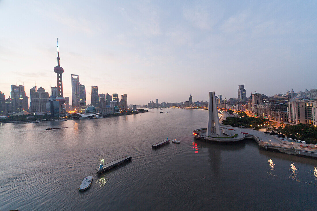
<path id="1" fill-rule="evenodd" d="M 316 209 L 317 160 L 260 150 L 252 140 L 194 140 L 207 111 L 161 111 L 0 124 L 0 210 Z M 152 149 L 165 135 L 181 144 Z M 100 159 L 125 155 L 132 161 L 96 174 Z M 79 192 L 89 175 L 92 186 Z"/>

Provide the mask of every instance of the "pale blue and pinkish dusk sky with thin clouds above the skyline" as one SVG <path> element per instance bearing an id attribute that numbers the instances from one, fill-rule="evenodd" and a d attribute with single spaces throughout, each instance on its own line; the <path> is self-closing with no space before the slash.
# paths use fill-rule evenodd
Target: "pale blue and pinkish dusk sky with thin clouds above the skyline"
<path id="1" fill-rule="evenodd" d="M 317 88 L 317 1 L 0 0 L 0 91 L 71 74 L 128 104 Z M 71 100 L 70 100 L 71 101 Z M 72 104 L 72 102 L 70 102 Z"/>

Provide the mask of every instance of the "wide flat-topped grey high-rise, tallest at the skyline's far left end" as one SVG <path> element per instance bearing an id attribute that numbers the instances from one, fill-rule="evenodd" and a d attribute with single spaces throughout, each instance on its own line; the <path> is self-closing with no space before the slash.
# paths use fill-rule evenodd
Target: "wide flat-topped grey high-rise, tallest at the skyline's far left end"
<path id="1" fill-rule="evenodd" d="M 11 112 L 29 111 L 29 97 L 25 96 L 24 86 L 11 85 Z"/>

